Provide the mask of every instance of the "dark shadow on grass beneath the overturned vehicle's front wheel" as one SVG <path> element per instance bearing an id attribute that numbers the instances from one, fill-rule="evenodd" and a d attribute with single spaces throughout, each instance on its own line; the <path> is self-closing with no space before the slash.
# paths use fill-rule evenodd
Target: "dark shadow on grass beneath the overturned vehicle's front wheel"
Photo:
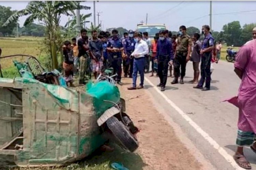
<path id="1" fill-rule="evenodd" d="M 102 152 L 96 150 L 92 155 L 80 161 L 80 165 L 94 166 L 104 164 L 111 166 L 112 163 L 122 163 L 128 169 L 142 170 L 144 166 L 147 166 L 137 153 L 124 152 L 119 146 L 111 143 L 111 147 L 114 148 L 113 152 Z"/>

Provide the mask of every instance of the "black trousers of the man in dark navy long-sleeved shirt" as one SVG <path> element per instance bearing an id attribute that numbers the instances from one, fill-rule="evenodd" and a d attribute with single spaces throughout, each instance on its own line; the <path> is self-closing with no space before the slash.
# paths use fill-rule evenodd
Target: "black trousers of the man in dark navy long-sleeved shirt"
<path id="1" fill-rule="evenodd" d="M 158 62 L 157 72 L 158 72 L 158 77 L 160 79 L 160 84 L 163 87 L 165 87 L 167 82 L 167 75 L 168 75 L 169 58 L 167 56 L 159 56 L 157 62 Z"/>

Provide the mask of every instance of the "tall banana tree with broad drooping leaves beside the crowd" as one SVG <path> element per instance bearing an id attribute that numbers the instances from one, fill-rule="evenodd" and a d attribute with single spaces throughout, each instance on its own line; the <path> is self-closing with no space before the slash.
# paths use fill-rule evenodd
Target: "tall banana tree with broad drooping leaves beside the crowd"
<path id="1" fill-rule="evenodd" d="M 57 51 L 60 51 L 62 38 L 59 28 L 61 15 L 71 16 L 74 10 L 89 10 L 90 7 L 80 5 L 84 1 L 30 1 L 25 9 L 11 15 L 3 26 L 16 20 L 17 17 L 28 16 L 24 26 L 39 20 L 46 26 L 47 40 L 45 45 L 51 53 L 52 68 L 58 68 Z M 57 49 L 57 50 L 56 50 Z"/>

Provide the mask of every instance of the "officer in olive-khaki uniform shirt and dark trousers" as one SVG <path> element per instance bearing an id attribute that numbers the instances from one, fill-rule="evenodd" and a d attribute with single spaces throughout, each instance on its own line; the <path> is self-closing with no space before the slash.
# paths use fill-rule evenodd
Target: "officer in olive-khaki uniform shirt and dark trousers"
<path id="1" fill-rule="evenodd" d="M 186 33 L 186 27 L 181 26 L 179 32 L 179 39 L 178 44 L 175 52 L 175 60 L 174 60 L 174 69 L 175 75 L 174 80 L 171 84 L 177 84 L 178 78 L 181 76 L 180 83 L 184 84 L 183 78 L 185 77 L 186 73 L 186 64 L 190 60 L 190 52 L 192 46 L 192 40 Z"/>

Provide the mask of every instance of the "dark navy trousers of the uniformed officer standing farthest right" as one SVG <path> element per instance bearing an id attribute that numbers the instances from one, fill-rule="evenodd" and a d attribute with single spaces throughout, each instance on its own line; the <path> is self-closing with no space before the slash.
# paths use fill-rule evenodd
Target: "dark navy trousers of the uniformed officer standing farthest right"
<path id="1" fill-rule="evenodd" d="M 205 81 L 205 87 L 210 88 L 211 84 L 211 58 L 212 54 L 203 54 L 201 57 L 201 79 L 198 86 L 203 87 Z M 205 80 L 206 79 L 206 80 Z"/>

